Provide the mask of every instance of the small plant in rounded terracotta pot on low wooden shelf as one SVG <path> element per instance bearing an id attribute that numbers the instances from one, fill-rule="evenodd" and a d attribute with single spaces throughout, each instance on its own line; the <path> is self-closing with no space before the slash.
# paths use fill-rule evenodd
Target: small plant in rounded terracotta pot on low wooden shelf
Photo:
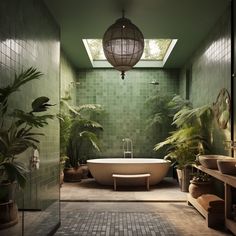
<path id="1" fill-rule="evenodd" d="M 192 180 L 190 180 L 189 193 L 193 198 L 198 198 L 202 194 L 212 193 L 212 178 L 208 174 L 197 171 L 192 174 Z"/>

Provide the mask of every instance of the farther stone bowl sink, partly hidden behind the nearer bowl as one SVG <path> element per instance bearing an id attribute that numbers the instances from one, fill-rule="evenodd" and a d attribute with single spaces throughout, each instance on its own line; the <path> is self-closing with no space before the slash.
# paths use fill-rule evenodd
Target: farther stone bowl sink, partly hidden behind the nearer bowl
<path id="1" fill-rule="evenodd" d="M 208 169 L 218 169 L 217 160 L 232 160 L 232 157 L 223 155 L 200 155 L 198 160 L 200 164 Z"/>

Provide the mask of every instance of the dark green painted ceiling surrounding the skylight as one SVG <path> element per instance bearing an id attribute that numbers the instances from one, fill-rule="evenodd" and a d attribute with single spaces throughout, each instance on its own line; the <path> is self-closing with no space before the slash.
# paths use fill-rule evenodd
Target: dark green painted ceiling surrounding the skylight
<path id="1" fill-rule="evenodd" d="M 166 68 L 180 68 L 230 0 L 45 0 L 61 29 L 61 45 L 76 68 L 91 68 L 82 39 L 102 38 L 122 8 L 147 39 L 178 39 Z"/>

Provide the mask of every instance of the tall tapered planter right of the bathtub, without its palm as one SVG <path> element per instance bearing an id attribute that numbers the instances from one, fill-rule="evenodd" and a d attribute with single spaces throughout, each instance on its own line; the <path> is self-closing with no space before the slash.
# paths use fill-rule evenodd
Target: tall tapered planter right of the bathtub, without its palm
<path id="1" fill-rule="evenodd" d="M 191 180 L 191 167 L 185 167 L 183 169 L 176 169 L 179 186 L 182 192 L 188 192 L 188 187 Z"/>

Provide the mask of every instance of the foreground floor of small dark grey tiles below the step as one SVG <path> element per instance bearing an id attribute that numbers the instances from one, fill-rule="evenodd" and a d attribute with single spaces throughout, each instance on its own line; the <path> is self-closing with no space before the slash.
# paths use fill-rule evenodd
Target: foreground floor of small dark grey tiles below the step
<path id="1" fill-rule="evenodd" d="M 186 203 L 63 202 L 56 236 L 220 236 Z"/>

